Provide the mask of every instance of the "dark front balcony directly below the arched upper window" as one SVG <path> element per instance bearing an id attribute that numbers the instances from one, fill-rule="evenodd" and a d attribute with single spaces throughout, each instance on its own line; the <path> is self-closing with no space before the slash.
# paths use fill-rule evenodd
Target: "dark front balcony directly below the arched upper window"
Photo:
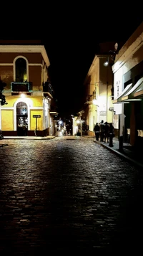
<path id="1" fill-rule="evenodd" d="M 31 82 L 11 82 L 12 93 L 29 93 L 32 90 Z"/>

